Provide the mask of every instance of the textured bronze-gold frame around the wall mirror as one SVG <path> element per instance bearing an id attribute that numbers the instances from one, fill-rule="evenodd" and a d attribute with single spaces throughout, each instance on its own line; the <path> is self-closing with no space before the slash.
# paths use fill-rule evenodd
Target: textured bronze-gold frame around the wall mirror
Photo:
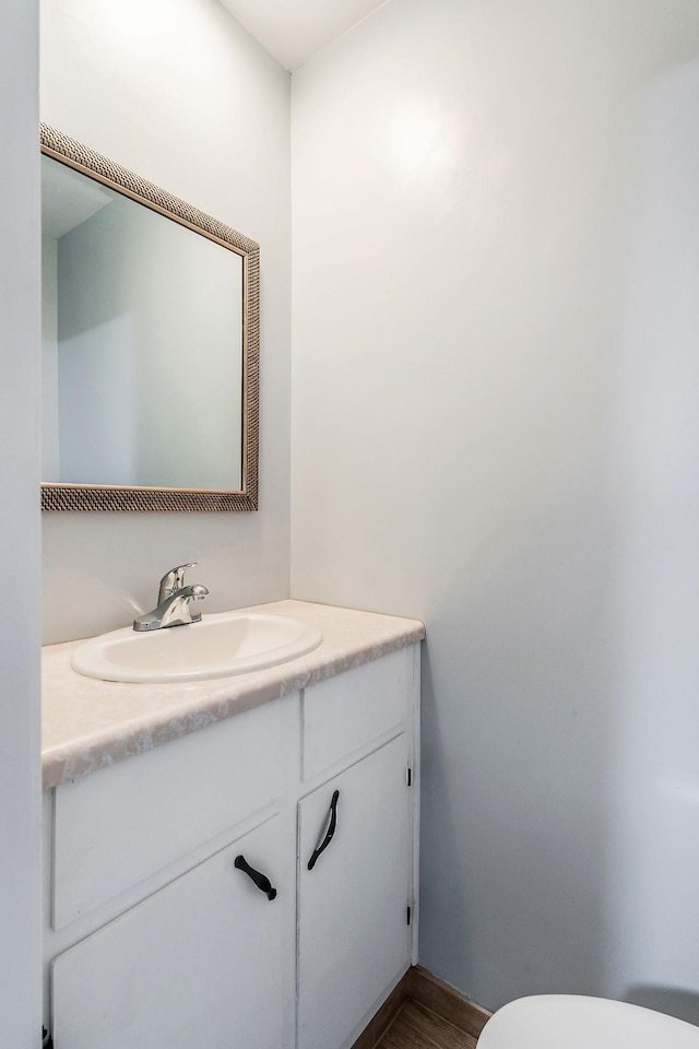
<path id="1" fill-rule="evenodd" d="M 240 491 L 44 482 L 44 510 L 257 510 L 260 370 L 260 246 L 211 215 L 42 125 L 42 153 L 159 212 L 242 258 L 242 447 Z"/>

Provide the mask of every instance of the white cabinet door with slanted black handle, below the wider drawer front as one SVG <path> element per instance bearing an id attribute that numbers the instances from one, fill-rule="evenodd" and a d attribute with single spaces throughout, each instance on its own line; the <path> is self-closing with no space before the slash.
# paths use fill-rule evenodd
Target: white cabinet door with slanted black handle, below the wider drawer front
<path id="1" fill-rule="evenodd" d="M 277 824 L 273 817 L 59 955 L 56 1049 L 287 1045 L 282 910 L 293 906 L 294 886 Z M 269 876 L 274 900 L 234 867 L 240 853 Z M 286 884 L 276 882 L 282 873 Z"/>

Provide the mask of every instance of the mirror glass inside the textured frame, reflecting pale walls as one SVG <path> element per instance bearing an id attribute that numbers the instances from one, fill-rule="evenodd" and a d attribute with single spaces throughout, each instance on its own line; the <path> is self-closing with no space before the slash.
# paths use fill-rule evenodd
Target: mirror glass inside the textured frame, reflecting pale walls
<path id="1" fill-rule="evenodd" d="M 45 481 L 240 490 L 242 258 L 42 157 Z"/>

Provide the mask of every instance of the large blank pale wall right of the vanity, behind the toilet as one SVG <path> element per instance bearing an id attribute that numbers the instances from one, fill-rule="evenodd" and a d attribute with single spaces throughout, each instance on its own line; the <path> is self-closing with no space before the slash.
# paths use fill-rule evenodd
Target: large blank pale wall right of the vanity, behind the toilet
<path id="1" fill-rule="evenodd" d="M 699 1022 L 699 8 L 401 0 L 294 74 L 292 591 L 412 614 L 422 960 Z"/>

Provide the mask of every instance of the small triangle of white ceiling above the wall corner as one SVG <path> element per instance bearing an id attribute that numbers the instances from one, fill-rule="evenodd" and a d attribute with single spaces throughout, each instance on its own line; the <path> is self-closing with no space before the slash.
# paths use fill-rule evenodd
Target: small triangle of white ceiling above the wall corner
<path id="1" fill-rule="evenodd" d="M 307 58 L 387 0 L 221 0 L 286 69 Z"/>

